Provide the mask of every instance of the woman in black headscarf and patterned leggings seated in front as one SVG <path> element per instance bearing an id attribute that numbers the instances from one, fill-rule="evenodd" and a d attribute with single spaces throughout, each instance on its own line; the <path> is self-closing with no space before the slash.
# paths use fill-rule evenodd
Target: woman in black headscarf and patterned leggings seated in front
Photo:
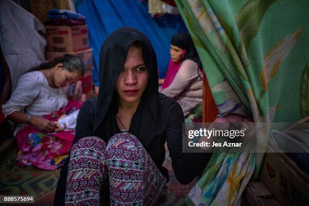
<path id="1" fill-rule="evenodd" d="M 80 110 L 54 205 L 155 205 L 168 187 L 165 142 L 183 184 L 211 154 L 182 153 L 184 116 L 177 101 L 158 92 L 157 58 L 144 34 L 126 27 L 111 33 L 99 67 L 102 86 Z"/>

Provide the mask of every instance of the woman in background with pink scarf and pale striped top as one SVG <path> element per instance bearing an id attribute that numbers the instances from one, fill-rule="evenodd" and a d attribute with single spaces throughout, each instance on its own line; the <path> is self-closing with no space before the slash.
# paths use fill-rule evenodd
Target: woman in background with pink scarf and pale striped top
<path id="1" fill-rule="evenodd" d="M 184 116 L 187 116 L 202 102 L 199 57 L 190 35 L 186 33 L 178 33 L 172 37 L 170 53 L 170 64 L 159 92 L 176 99 Z"/>

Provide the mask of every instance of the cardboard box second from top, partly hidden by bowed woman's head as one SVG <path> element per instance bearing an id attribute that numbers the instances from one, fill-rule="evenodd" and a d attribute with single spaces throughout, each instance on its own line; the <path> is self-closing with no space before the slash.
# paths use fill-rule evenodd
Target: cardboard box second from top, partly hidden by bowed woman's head
<path id="1" fill-rule="evenodd" d="M 61 57 L 68 52 L 46 52 L 46 59 L 54 60 L 57 57 Z M 85 75 L 90 74 L 93 68 L 92 49 L 85 49 L 76 52 L 69 52 L 70 54 L 76 54 L 83 59 L 85 63 Z"/>

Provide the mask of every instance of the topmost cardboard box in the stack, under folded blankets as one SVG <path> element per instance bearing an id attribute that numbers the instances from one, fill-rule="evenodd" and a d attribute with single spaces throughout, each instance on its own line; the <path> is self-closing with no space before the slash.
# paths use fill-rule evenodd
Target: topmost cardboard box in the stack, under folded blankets
<path id="1" fill-rule="evenodd" d="M 72 52 L 89 48 L 87 25 L 45 28 L 48 51 Z"/>

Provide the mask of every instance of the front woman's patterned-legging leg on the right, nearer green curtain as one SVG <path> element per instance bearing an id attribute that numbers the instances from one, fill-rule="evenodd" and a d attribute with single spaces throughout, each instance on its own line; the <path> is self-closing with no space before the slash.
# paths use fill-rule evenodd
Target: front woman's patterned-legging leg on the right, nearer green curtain
<path id="1" fill-rule="evenodd" d="M 132 134 L 115 134 L 106 149 L 111 205 L 155 205 L 167 180 Z"/>

